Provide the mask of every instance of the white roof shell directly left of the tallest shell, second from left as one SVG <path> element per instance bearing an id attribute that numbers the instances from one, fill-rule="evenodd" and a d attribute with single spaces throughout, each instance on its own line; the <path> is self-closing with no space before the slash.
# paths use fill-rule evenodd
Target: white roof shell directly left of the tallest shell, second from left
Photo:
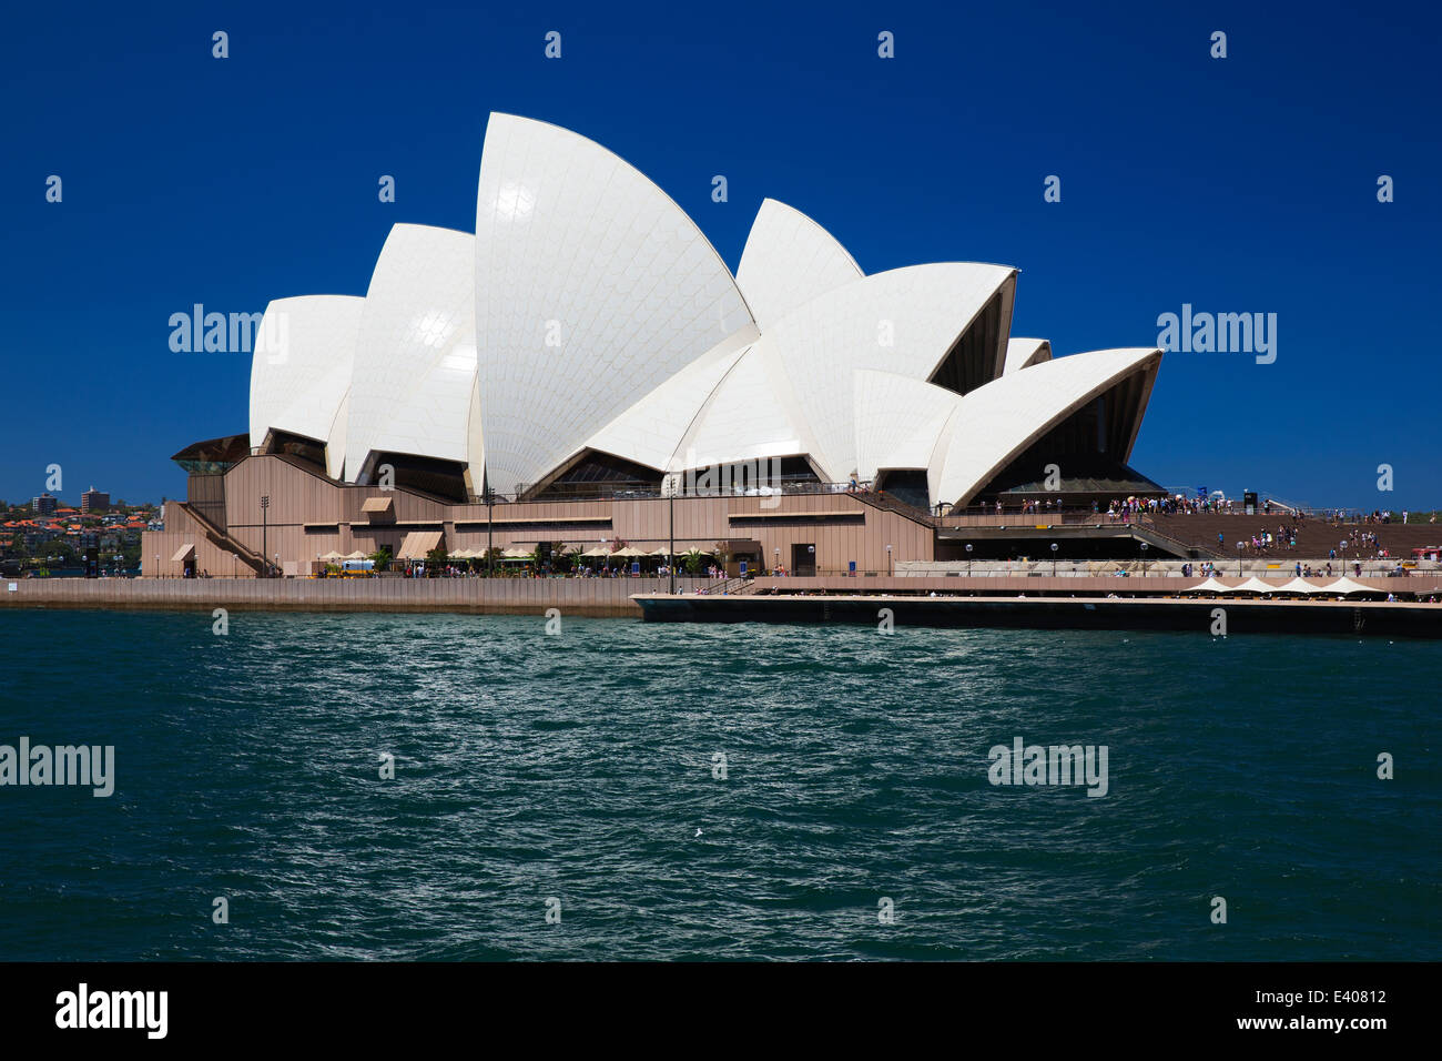
<path id="1" fill-rule="evenodd" d="M 391 228 L 371 276 L 356 342 L 346 440 L 350 482 L 373 452 L 483 466 L 479 437 L 470 430 L 474 261 L 474 237 L 466 232 Z"/>

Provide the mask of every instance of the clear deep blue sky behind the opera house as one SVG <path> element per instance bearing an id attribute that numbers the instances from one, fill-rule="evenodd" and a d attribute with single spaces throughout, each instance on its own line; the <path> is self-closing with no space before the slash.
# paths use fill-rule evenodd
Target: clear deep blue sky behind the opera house
<path id="1" fill-rule="evenodd" d="M 1275 364 L 1164 358 L 1133 465 L 1172 486 L 1442 505 L 1433 6 L 795 7 L 10 6 L 0 497 L 37 494 L 49 463 L 71 501 L 91 484 L 183 495 L 167 458 L 245 430 L 249 357 L 173 354 L 169 316 L 363 294 L 394 222 L 472 231 L 500 110 L 627 159 L 733 270 L 773 196 L 868 273 L 1017 266 L 1014 333 L 1058 355 L 1151 345 L 1182 303 L 1276 313 Z"/>

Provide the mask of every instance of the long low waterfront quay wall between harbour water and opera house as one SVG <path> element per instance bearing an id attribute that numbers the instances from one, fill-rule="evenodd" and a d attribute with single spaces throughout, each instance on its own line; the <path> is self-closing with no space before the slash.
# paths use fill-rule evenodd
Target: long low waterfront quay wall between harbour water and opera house
<path id="1" fill-rule="evenodd" d="M 1190 582 L 1190 580 L 1188 580 Z M 1371 579 L 1433 593 L 1435 579 Z M 650 622 L 790 622 L 1012 629 L 1181 629 L 1442 638 L 1442 603 L 1178 596 L 1174 577 L 786 577 L 717 592 L 711 579 L 22 579 L 9 609 L 561 615 Z M 13 588 L 13 589 L 12 589 Z M 737 589 L 734 585 L 731 589 Z M 698 592 L 709 590 L 709 592 Z M 1113 593 L 1126 596 L 1112 596 Z M 934 593 L 934 596 L 933 596 Z"/>

